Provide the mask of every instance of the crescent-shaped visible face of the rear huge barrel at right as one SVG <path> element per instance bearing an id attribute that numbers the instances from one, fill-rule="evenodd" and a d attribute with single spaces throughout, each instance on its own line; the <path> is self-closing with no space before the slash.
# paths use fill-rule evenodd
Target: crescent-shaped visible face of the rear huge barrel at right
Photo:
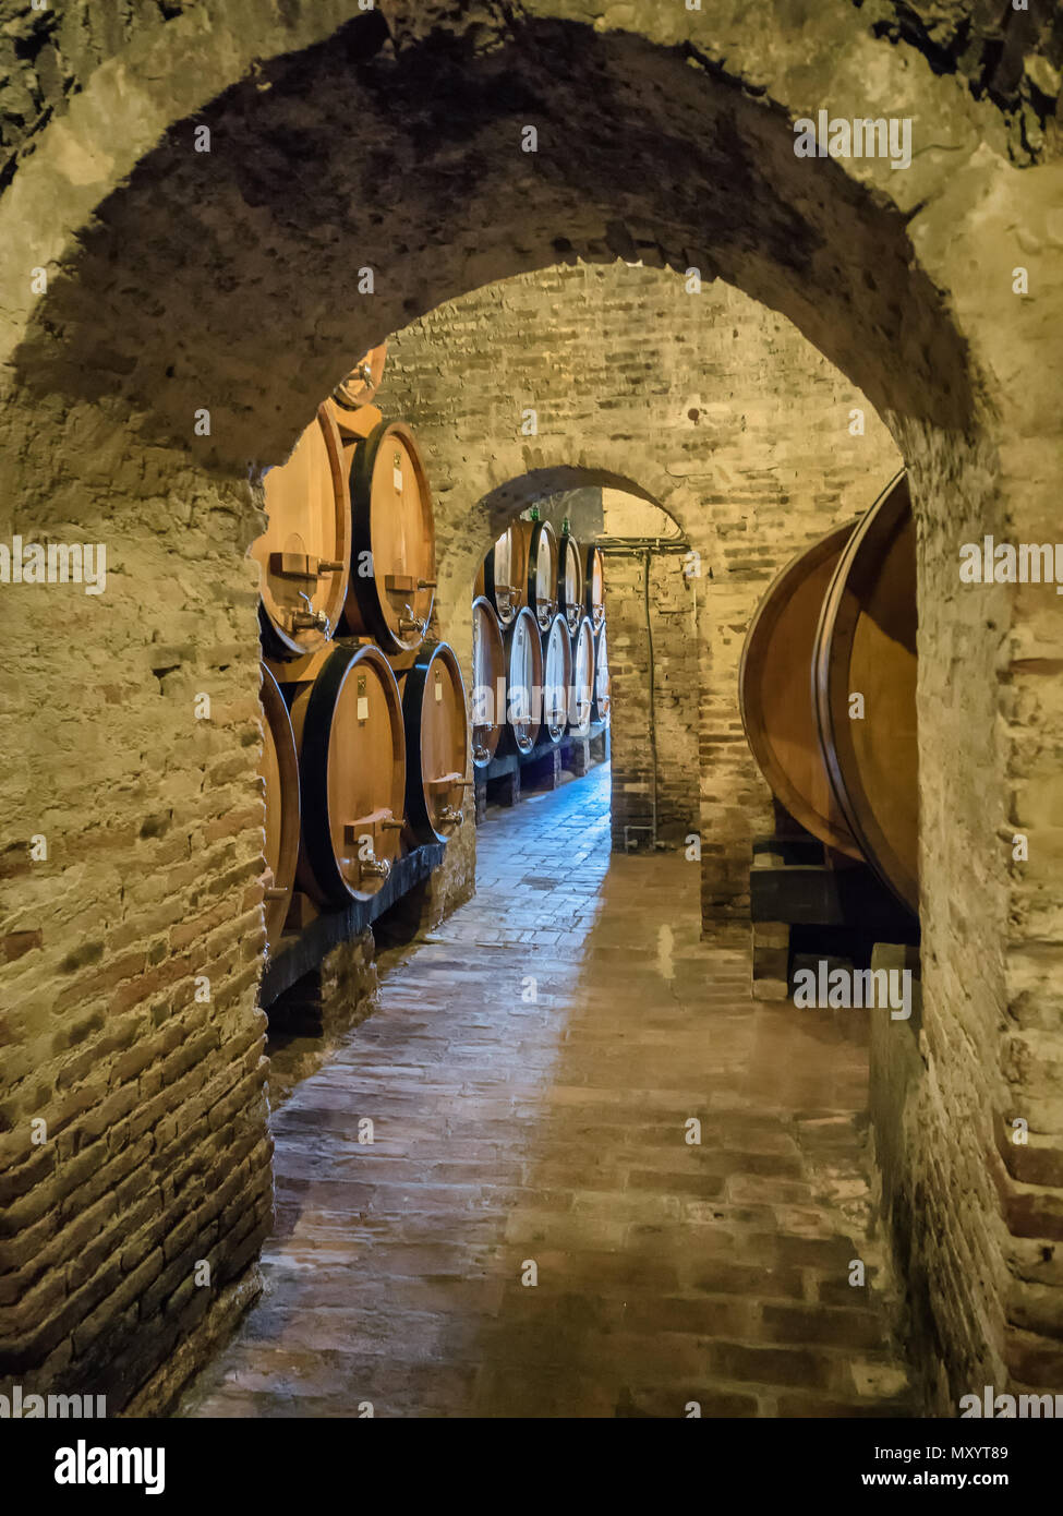
<path id="1" fill-rule="evenodd" d="M 860 858 L 826 767 L 811 687 L 823 597 L 854 525 L 833 528 L 769 585 L 746 634 L 738 705 L 772 793 L 813 837 Z"/>

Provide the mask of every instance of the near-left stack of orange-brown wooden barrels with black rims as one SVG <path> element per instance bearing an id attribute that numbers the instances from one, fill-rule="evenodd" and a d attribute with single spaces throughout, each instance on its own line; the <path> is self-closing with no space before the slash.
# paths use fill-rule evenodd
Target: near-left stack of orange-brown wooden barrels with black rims
<path id="1" fill-rule="evenodd" d="M 264 478 L 265 926 L 376 894 L 396 861 L 463 819 L 458 661 L 428 638 L 432 496 L 417 440 L 372 400 L 384 347 L 318 406 Z M 296 894 L 296 891 L 299 891 Z"/>

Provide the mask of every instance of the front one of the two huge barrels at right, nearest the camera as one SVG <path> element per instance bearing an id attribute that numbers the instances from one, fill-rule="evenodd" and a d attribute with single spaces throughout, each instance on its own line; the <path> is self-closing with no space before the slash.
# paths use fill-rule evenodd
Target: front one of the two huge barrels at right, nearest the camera
<path id="1" fill-rule="evenodd" d="M 823 597 L 813 681 L 839 807 L 864 857 L 919 910 L 916 528 L 907 475 L 861 518 Z M 861 714 L 855 696 L 863 697 Z"/>

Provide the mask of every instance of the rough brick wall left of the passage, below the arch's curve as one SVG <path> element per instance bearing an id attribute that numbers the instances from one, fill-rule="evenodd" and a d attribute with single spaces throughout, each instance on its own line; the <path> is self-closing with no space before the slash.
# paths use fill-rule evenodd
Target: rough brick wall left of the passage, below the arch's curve
<path id="1" fill-rule="evenodd" d="M 100 596 L 2 590 L 0 1373 L 117 1408 L 270 1222 L 258 517 L 88 406 L 29 434 L 44 503 L 3 488 L 0 537 L 108 556 Z"/>

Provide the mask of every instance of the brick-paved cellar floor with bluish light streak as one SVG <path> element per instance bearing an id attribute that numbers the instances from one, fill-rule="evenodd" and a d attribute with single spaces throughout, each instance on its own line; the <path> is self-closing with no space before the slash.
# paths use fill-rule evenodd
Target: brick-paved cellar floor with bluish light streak
<path id="1" fill-rule="evenodd" d="M 908 1414 L 848 1283 L 855 1028 L 751 1001 L 696 864 L 610 854 L 607 767 L 488 813 L 478 882 L 274 1116 L 267 1290 L 180 1414 Z"/>

